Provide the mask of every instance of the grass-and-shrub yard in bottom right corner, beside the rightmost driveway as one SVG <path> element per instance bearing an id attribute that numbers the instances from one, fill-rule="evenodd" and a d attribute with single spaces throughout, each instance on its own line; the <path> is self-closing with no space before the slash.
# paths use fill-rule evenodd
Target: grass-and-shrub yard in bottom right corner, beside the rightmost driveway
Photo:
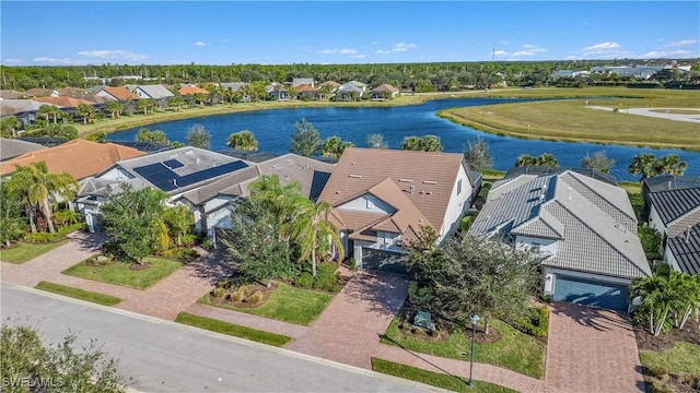
<path id="1" fill-rule="evenodd" d="M 700 391 L 700 324 L 688 321 L 654 337 L 634 330 L 648 392 Z"/>

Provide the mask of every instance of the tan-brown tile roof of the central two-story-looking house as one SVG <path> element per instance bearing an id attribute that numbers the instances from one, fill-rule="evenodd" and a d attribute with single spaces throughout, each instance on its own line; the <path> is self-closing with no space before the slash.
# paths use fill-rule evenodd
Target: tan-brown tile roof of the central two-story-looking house
<path id="1" fill-rule="evenodd" d="M 460 167 L 462 154 L 349 147 L 319 200 L 337 207 L 372 193 L 400 211 L 392 219 L 401 229 L 440 230 Z"/>

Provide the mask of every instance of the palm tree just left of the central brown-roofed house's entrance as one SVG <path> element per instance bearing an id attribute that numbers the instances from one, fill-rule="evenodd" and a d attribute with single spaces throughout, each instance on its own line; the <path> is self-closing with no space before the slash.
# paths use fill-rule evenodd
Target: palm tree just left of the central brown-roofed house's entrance
<path id="1" fill-rule="evenodd" d="M 316 252 L 330 252 L 332 246 L 338 252 L 338 261 L 345 258 L 345 250 L 338 228 L 328 219 L 331 206 L 322 201 L 316 204 L 306 199 L 298 200 L 298 209 L 303 212 L 294 222 L 294 238 L 300 245 L 299 261 L 311 258 L 312 276 L 316 276 Z"/>

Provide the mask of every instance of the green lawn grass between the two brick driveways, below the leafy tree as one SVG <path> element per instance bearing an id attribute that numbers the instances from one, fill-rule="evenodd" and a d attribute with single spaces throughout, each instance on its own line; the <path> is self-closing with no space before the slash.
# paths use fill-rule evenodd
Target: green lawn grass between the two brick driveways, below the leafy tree
<path id="1" fill-rule="evenodd" d="M 491 327 L 499 331 L 501 338 L 490 344 L 477 344 L 475 361 L 503 367 L 515 372 L 541 379 L 545 376 L 545 344 L 494 320 Z M 406 349 L 444 358 L 460 359 L 460 353 L 471 350 L 471 341 L 459 330 L 444 342 L 431 342 L 416 337 L 402 337 L 398 329 L 398 317 L 386 330 L 382 343 L 398 345 Z"/>

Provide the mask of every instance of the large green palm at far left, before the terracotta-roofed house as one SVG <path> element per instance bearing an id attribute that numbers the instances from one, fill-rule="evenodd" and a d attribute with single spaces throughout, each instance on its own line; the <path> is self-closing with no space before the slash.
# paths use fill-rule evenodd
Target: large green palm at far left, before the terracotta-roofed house
<path id="1" fill-rule="evenodd" d="M 51 234 L 56 230 L 51 219 L 50 203 L 59 199 L 72 199 L 78 191 L 78 182 L 72 176 L 67 172 L 49 174 L 45 162 L 18 166 L 8 180 L 7 187 L 22 195 L 25 207 L 28 207 L 27 215 L 32 231 L 36 231 L 34 212 L 38 210 L 44 214 Z"/>

